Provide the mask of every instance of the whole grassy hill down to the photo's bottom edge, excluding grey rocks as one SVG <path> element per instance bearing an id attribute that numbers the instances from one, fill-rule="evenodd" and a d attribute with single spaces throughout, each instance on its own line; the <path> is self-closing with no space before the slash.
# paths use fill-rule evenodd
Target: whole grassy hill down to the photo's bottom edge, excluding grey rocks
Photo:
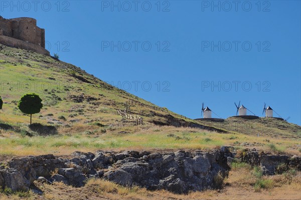
<path id="1" fill-rule="evenodd" d="M 86 163 L 90 159 L 82 163 L 76 161 L 82 160 L 84 154 L 93 154 L 91 152 L 99 153 L 97 158 L 93 158 L 94 162 L 103 158 L 111 163 L 109 166 L 100 167 L 101 170 L 97 172 L 93 168 L 98 175 L 108 172 L 113 174 L 118 169 L 112 167 L 118 167 L 126 160 L 129 160 L 126 164 L 132 166 L 129 170 L 133 169 L 140 174 L 139 167 L 144 165 L 145 161 L 138 161 L 141 166 L 132 165 L 132 160 L 138 159 L 135 153 L 139 156 L 143 155 L 143 159 L 149 157 L 149 162 L 158 166 L 163 163 L 167 165 L 174 163 L 175 160 L 173 162 L 170 158 L 175 154 L 185 154 L 189 161 L 177 160 L 180 163 L 179 166 L 183 166 L 188 171 L 185 174 L 190 174 L 191 176 L 188 177 L 191 178 L 195 177 L 195 174 L 202 176 L 199 166 L 208 166 L 208 169 L 214 168 L 213 166 L 219 167 L 216 163 L 212 167 L 204 164 L 206 163 L 203 160 L 204 157 L 198 157 L 203 160 L 199 165 L 190 164 L 191 161 L 198 160 L 196 157 L 191 157 L 191 152 L 195 151 L 196 154 L 202 154 L 205 157 L 211 155 L 209 157 L 215 160 L 216 155 L 220 155 L 220 151 L 214 149 L 233 150 L 230 158 L 226 155 L 227 150 L 224 152 L 226 154 L 223 154 L 222 161 L 226 166 L 228 166 L 228 161 L 232 160 L 231 170 L 227 171 L 229 173 L 227 178 L 218 174 L 211 177 L 214 184 L 219 183 L 222 186 L 217 187 L 218 189 L 175 194 L 162 189 L 147 190 L 136 185 L 122 186 L 112 182 L 113 180 L 91 178 L 94 176 L 89 176 L 89 174 L 84 175 L 89 176 L 84 186 L 73 187 L 57 181 L 51 184 L 43 183 L 42 177 L 38 178 L 33 175 L 34 179 L 32 179 L 29 191 L 13 191 L 10 188 L 0 187 L 1 199 L 299 198 L 300 171 L 294 168 L 285 169 L 287 171 L 283 174 L 269 176 L 262 174 L 261 169 L 259 170 L 261 166 L 252 166 L 240 161 L 246 154 L 254 152 L 263 156 L 267 154 L 266 156 L 271 159 L 283 156 L 298 158 L 301 152 L 299 143 L 301 127 L 296 124 L 277 118 L 263 117 L 255 119 L 229 117 L 216 121 L 190 119 L 113 87 L 72 64 L 33 51 L 5 45 L 0 45 L 0 79 L 0 95 L 4 100 L 3 109 L 0 112 L 0 186 L 3 185 L 2 177 L 13 177 L 2 175 L 10 174 L 10 170 L 14 171 L 9 168 L 11 161 L 21 164 L 20 166 L 17 164 L 20 171 L 33 174 L 30 164 L 23 165 L 25 162 L 16 162 L 16 160 L 41 161 L 42 159 L 27 155 L 47 154 L 42 157 L 49 157 L 52 161 L 56 159 L 51 157 L 59 156 L 58 163 L 62 160 L 66 161 L 63 161 L 60 168 L 52 166 L 50 162 L 40 163 L 37 168 L 41 171 L 41 167 L 44 169 L 46 166 L 51 166 L 55 169 L 46 168 L 45 171 L 54 177 L 62 177 L 55 173 L 62 174 L 62 170 L 72 170 L 78 175 L 78 170 L 86 171 L 88 166 Z M 17 108 L 20 97 L 30 92 L 38 93 L 44 104 L 41 112 L 33 115 L 35 123 L 32 125 L 29 125 L 29 116 Z M 119 114 L 124 114 L 124 109 L 126 109 L 127 117 Z M 138 115 L 143 117 L 143 123 L 140 123 L 141 120 L 132 119 L 133 117 L 139 119 Z M 139 122 L 138 125 L 137 122 Z M 218 153 L 213 156 L 210 153 L 212 150 Z M 102 152 L 105 156 L 102 156 Z M 133 153 L 131 155 L 133 157 L 129 155 L 126 157 L 125 152 Z M 147 156 L 145 153 L 148 153 Z M 75 154 L 79 157 L 74 157 Z M 166 162 L 163 161 L 161 154 L 164 154 Z M 20 158 L 24 155 L 27 157 Z M 160 155 L 162 159 L 158 159 Z M 235 155 L 237 156 L 234 157 Z M 116 161 L 116 157 L 121 157 L 122 160 Z M 268 162 L 276 165 L 279 160 L 274 161 Z M 89 161 L 92 165 L 94 162 Z M 32 161 L 30 163 L 37 164 Z M 126 164 L 124 167 L 127 167 Z M 191 171 L 193 167 L 196 171 Z M 148 169 L 152 172 L 162 170 L 162 168 L 154 169 L 153 166 Z M 175 169 L 169 170 L 174 173 Z M 42 172 L 45 171 L 42 170 Z M 64 172 L 65 176 L 66 174 Z M 82 176 L 81 173 L 78 177 Z M 125 178 L 118 175 L 115 177 Z M 153 178 L 153 176 L 149 177 Z M 36 178 L 38 179 L 35 180 Z M 173 180 L 171 178 L 173 177 L 168 176 L 167 180 Z M 189 178 L 187 180 L 190 180 Z M 175 188 L 182 190 L 181 186 Z"/>

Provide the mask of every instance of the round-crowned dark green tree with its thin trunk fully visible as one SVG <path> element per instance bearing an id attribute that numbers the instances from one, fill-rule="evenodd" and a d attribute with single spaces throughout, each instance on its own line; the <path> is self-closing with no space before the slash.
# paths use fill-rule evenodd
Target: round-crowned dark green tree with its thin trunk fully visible
<path id="1" fill-rule="evenodd" d="M 30 114 L 30 124 L 32 123 L 32 114 L 39 113 L 42 107 L 42 99 L 35 93 L 25 94 L 18 103 L 18 108 L 22 112 Z"/>

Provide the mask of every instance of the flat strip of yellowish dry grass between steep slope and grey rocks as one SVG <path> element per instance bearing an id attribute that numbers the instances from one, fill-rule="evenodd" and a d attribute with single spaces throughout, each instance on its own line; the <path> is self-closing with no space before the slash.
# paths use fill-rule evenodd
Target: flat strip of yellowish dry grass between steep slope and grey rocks
<path id="1" fill-rule="evenodd" d="M 21 129 L 28 130 L 22 125 Z M 279 151 L 300 154 L 298 140 L 257 137 L 240 133 L 225 134 L 197 128 L 173 126 L 112 126 L 74 124 L 59 127 L 59 134 L 29 137 L 15 130 L 1 129 L 0 155 L 37 155 L 53 153 L 70 154 L 75 150 L 94 152 L 106 150 L 152 150 L 152 149 L 203 149 L 211 150 L 221 145 L 234 145 L 238 150 L 245 148 L 239 143 L 254 143 L 258 150 L 271 151 L 270 143 L 275 143 Z M 29 131 L 29 130 L 28 130 Z M 250 148 L 250 147 L 249 147 Z"/>

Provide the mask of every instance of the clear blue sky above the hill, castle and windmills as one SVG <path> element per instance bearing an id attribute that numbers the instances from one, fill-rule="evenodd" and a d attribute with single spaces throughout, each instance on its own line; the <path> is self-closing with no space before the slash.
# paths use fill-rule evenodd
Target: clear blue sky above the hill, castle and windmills
<path id="1" fill-rule="evenodd" d="M 1 15 L 36 18 L 51 54 L 139 97 L 190 118 L 202 102 L 223 118 L 266 102 L 301 124 L 299 0 L 27 2 Z"/>

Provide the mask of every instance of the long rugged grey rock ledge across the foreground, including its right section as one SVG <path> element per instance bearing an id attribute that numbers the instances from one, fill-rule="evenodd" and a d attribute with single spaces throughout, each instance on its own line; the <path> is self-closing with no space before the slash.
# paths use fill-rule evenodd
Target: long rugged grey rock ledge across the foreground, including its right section
<path id="1" fill-rule="evenodd" d="M 219 186 L 216 180 L 227 175 L 234 155 L 230 146 L 222 146 L 212 152 L 76 151 L 70 158 L 27 156 L 1 165 L 0 186 L 28 190 L 38 180 L 81 187 L 88 178 L 104 178 L 124 186 L 187 193 Z M 287 165 L 300 169 L 301 160 L 298 156 L 260 154 L 256 149 L 244 151 L 241 159 L 260 166 L 265 174 L 274 174 L 280 164 L 283 168 L 283 163 L 284 168 Z"/>

